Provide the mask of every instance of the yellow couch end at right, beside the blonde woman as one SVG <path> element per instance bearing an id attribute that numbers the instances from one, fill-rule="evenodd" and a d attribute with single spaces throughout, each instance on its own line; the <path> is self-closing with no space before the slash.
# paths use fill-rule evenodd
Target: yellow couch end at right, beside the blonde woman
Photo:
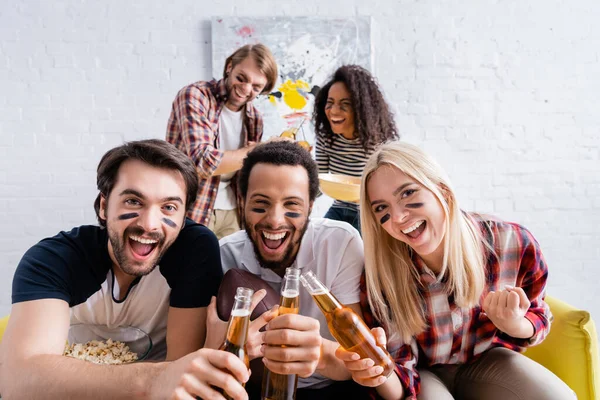
<path id="1" fill-rule="evenodd" d="M 546 302 L 554 315 L 546 340 L 525 355 L 554 372 L 578 400 L 600 400 L 598 334 L 590 313 L 553 298 Z"/>

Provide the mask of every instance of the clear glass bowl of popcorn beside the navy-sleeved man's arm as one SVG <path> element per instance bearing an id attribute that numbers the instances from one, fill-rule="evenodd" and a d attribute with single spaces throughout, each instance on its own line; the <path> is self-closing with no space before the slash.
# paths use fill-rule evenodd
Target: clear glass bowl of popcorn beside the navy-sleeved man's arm
<path id="1" fill-rule="evenodd" d="M 75 324 L 63 355 L 95 364 L 127 364 L 145 359 L 151 349 L 150 336 L 133 326 Z"/>

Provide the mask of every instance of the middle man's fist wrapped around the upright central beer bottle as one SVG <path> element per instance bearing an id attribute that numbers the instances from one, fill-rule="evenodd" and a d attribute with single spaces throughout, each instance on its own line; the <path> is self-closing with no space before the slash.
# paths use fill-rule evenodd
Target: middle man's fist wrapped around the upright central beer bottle
<path id="1" fill-rule="evenodd" d="M 272 372 L 306 378 L 319 364 L 321 341 L 316 319 L 298 314 L 280 315 L 262 333 L 263 362 Z"/>

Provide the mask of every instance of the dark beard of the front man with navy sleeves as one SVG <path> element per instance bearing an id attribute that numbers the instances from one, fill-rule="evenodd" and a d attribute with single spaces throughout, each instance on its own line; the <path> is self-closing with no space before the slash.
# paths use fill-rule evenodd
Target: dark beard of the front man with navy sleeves
<path id="1" fill-rule="evenodd" d="M 158 265 L 158 262 L 167 251 L 170 246 L 166 245 L 165 236 L 158 233 L 146 233 L 142 228 L 137 226 L 130 226 L 125 229 L 123 232 L 123 236 L 119 237 L 119 234 L 112 230 L 107 224 L 108 230 L 108 239 L 110 240 L 110 244 L 113 249 L 113 254 L 119 265 L 119 268 L 123 272 L 132 276 L 144 276 L 148 275 L 150 272 L 154 271 L 154 268 Z M 148 260 L 144 261 L 136 261 L 129 259 L 125 254 L 125 244 L 129 239 L 129 236 L 144 236 L 150 239 L 158 240 L 155 245 L 155 248 L 152 251 L 156 251 L 156 255 Z M 131 246 L 131 245 L 130 245 Z"/>

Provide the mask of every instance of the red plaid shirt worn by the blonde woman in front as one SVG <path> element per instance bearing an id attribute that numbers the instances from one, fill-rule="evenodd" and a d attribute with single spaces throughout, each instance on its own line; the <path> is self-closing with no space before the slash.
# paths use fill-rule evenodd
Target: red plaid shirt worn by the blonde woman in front
<path id="1" fill-rule="evenodd" d="M 424 301 L 427 328 L 413 337 L 411 343 L 393 338 L 387 343 L 396 362 L 396 373 L 404 387 L 404 394 L 409 399 L 416 399 L 421 389 L 417 362 L 424 367 L 464 364 L 493 347 L 522 351 L 527 346 L 542 342 L 550 330 L 552 315 L 544 302 L 548 269 L 538 242 L 518 224 L 469 215 L 481 227 L 484 238 L 493 244 L 495 251 L 487 259 L 487 285 L 480 304 L 490 291 L 502 290 L 505 285 L 523 288 L 531 302 L 525 317 L 533 324 L 535 333 L 530 339 L 516 339 L 499 331 L 480 306 L 472 309 L 457 307 L 453 297 L 444 293 L 443 280 L 435 278 L 415 255 L 413 261 L 421 274 L 420 294 Z M 360 288 L 365 322 L 370 327 L 379 326 L 369 309 L 364 273 Z M 388 338 L 392 336 L 388 329 L 386 335 Z"/>

